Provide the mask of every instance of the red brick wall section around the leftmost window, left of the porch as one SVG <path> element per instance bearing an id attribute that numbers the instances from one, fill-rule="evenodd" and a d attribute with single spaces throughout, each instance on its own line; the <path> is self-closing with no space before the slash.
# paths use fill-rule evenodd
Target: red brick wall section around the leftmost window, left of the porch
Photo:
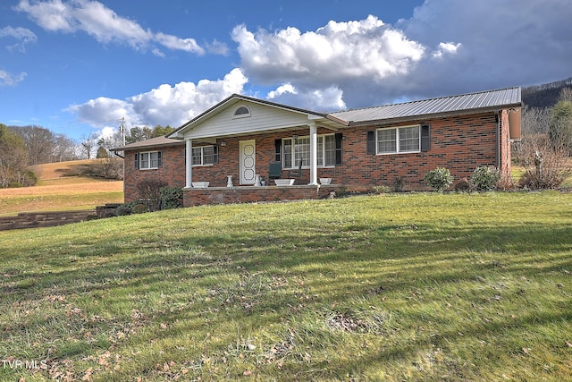
<path id="1" fill-rule="evenodd" d="M 124 191 L 125 202 L 139 199 L 137 184 L 143 179 L 151 178 L 169 184 L 169 187 L 185 186 L 185 145 L 168 146 L 161 149 L 141 149 L 146 151 L 163 151 L 163 166 L 153 170 L 135 168 L 135 153 L 125 151 Z"/>

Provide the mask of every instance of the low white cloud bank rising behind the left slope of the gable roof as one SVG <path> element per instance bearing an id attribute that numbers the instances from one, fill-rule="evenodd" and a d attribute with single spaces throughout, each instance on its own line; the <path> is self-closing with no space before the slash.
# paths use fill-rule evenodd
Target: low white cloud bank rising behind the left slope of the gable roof
<path id="1" fill-rule="evenodd" d="M 97 128 L 114 125 L 122 117 L 129 128 L 157 124 L 178 127 L 232 93 L 241 93 L 247 82 L 240 69 L 233 69 L 222 80 L 163 84 L 130 98 L 95 98 L 67 110 L 76 114 L 80 122 Z"/>

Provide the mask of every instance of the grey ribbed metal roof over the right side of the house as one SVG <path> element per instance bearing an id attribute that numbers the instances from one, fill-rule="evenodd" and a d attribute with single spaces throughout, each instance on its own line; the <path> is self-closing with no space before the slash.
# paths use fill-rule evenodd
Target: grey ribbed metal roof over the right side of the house
<path id="1" fill-rule="evenodd" d="M 401 104 L 351 109 L 329 116 L 350 125 L 407 120 L 420 116 L 457 115 L 521 106 L 520 88 L 481 91 L 458 96 L 423 99 Z"/>

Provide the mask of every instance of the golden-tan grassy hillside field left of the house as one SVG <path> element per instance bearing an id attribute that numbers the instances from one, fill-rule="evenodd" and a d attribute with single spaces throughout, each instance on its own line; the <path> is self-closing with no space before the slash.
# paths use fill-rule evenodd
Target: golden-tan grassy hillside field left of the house
<path id="1" fill-rule="evenodd" d="M 72 173 L 76 166 L 94 162 L 92 159 L 34 166 L 39 176 L 37 186 L 0 189 L 0 216 L 13 216 L 20 212 L 94 209 L 105 203 L 122 203 L 122 181 L 62 175 Z"/>

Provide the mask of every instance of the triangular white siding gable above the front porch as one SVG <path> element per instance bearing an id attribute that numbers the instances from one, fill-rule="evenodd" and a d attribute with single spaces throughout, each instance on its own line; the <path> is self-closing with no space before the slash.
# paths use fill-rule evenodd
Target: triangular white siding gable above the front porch
<path id="1" fill-rule="evenodd" d="M 250 110 L 250 116 L 235 117 L 234 112 L 240 106 L 247 106 Z M 195 140 L 307 126 L 308 123 L 311 123 L 309 116 L 294 110 L 259 105 L 240 99 L 214 111 L 213 115 L 206 116 L 202 121 L 197 122 L 188 132 L 185 132 L 184 138 Z"/>

